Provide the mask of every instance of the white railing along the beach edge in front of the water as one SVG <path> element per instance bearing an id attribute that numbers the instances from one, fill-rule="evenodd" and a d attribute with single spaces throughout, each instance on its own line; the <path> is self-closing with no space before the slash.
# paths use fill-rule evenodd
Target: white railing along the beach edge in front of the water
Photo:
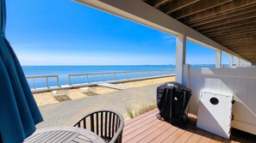
<path id="1" fill-rule="evenodd" d="M 93 83 L 100 81 L 135 80 L 141 78 L 159 77 L 175 74 L 175 69 L 166 70 L 140 70 L 130 72 L 106 72 L 91 74 L 68 74 L 68 84 Z M 31 89 L 59 86 L 59 75 L 36 75 L 27 76 L 28 85 Z M 51 78 L 51 79 L 50 79 Z M 43 86 L 42 86 L 43 85 Z M 45 86 L 44 86 L 45 85 Z"/>

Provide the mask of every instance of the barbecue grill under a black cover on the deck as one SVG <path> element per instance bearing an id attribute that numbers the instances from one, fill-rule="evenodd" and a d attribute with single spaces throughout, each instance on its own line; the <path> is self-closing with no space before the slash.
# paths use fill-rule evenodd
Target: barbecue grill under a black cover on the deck
<path id="1" fill-rule="evenodd" d="M 157 88 L 158 119 L 184 127 L 189 118 L 184 111 L 190 101 L 191 90 L 178 82 L 167 82 Z"/>

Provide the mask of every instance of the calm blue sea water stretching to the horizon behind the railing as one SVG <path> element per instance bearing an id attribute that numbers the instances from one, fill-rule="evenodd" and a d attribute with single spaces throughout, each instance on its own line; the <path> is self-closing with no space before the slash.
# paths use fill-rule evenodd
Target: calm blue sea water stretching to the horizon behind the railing
<path id="1" fill-rule="evenodd" d="M 214 68 L 215 65 L 191 65 L 191 68 Z M 103 73 L 103 72 L 128 72 L 128 71 L 138 71 L 138 70 L 166 70 L 175 69 L 175 65 L 140 65 L 140 66 L 22 66 L 26 76 L 33 75 L 59 75 L 59 85 L 68 84 L 68 74 L 89 74 L 89 73 Z M 167 74 L 167 73 L 154 73 L 153 75 Z M 145 74 L 116 74 L 116 80 L 122 80 L 125 78 L 136 78 L 141 76 L 148 76 Z M 106 75 L 103 80 L 114 80 L 113 75 Z M 100 81 L 101 75 L 90 76 L 88 81 Z M 84 83 L 86 82 L 86 77 L 81 76 L 78 78 L 72 78 L 72 84 Z M 34 87 L 45 87 L 46 79 L 36 79 L 28 80 L 28 84 L 31 88 Z M 49 86 L 56 86 L 56 78 L 49 78 Z"/>

